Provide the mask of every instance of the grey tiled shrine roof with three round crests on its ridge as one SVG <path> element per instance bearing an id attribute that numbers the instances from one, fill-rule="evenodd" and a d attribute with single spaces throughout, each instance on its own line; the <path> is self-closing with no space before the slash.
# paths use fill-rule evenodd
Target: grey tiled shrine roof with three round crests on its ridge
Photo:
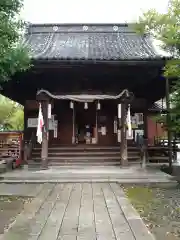
<path id="1" fill-rule="evenodd" d="M 149 60 L 162 59 L 149 36 L 131 25 L 29 25 L 24 44 L 33 59 Z"/>

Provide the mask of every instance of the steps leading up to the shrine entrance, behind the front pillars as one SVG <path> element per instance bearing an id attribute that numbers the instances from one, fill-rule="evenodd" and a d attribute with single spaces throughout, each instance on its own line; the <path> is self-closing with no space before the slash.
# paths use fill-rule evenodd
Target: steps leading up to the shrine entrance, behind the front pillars
<path id="1" fill-rule="evenodd" d="M 32 159 L 40 162 L 41 148 L 36 147 L 32 153 Z M 48 160 L 51 165 L 120 165 L 119 146 L 50 146 Z M 128 160 L 130 163 L 140 161 L 139 150 L 136 147 L 128 147 Z"/>

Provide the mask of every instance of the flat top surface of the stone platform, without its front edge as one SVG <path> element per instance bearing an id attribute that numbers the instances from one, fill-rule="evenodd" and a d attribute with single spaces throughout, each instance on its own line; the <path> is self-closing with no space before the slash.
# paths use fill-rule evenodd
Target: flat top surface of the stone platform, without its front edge
<path id="1" fill-rule="evenodd" d="M 12 172 L 7 172 L 0 175 L 2 179 L 62 179 L 69 177 L 95 177 L 98 178 L 168 178 L 169 175 L 161 172 L 159 169 L 147 168 L 143 169 L 141 167 L 87 167 L 78 169 L 74 167 L 70 169 L 67 167 L 54 168 L 49 167 L 47 170 L 27 170 L 19 169 Z"/>

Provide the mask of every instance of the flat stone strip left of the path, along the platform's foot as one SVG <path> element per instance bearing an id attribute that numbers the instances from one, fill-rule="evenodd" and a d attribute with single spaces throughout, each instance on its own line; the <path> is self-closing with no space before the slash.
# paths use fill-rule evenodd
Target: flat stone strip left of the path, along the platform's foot
<path id="1" fill-rule="evenodd" d="M 41 184 L 0 183 L 0 196 L 35 197 L 41 188 Z"/>

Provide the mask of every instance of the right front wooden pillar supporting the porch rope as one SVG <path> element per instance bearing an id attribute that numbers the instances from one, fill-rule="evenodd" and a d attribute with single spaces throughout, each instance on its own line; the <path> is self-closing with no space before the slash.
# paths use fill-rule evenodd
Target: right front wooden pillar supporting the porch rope
<path id="1" fill-rule="evenodd" d="M 128 165 L 128 152 L 127 152 L 127 106 L 125 103 L 121 103 L 121 145 L 120 145 L 120 155 L 121 155 L 121 165 Z"/>

